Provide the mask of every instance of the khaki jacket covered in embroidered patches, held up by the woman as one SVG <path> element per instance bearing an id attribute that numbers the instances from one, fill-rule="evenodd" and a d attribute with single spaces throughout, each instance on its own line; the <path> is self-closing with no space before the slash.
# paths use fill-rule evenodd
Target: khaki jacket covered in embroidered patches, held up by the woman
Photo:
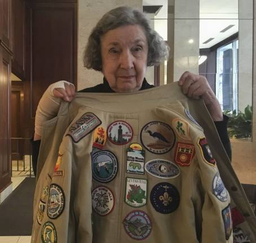
<path id="1" fill-rule="evenodd" d="M 204 102 L 176 83 L 77 93 L 46 122 L 37 170 L 32 243 L 256 242 Z"/>

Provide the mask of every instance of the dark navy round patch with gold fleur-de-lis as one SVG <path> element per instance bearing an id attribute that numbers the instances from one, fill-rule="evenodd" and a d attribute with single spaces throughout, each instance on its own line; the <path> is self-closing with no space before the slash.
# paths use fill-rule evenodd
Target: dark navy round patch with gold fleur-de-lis
<path id="1" fill-rule="evenodd" d="M 153 187 L 150 201 L 157 212 L 169 214 L 174 212 L 179 206 L 179 192 L 170 183 L 161 182 Z"/>

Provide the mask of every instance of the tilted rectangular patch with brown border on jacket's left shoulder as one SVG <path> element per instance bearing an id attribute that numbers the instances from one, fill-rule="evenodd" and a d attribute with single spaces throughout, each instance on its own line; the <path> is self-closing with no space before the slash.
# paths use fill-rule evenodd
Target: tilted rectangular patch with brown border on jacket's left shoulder
<path id="1" fill-rule="evenodd" d="M 98 116 L 93 113 L 85 113 L 71 125 L 67 135 L 70 136 L 74 142 L 78 142 L 100 124 L 101 120 Z"/>

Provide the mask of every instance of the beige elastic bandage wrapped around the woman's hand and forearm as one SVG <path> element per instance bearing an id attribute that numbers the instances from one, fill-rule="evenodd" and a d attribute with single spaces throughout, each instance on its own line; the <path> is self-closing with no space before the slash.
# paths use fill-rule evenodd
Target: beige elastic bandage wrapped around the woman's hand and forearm
<path id="1" fill-rule="evenodd" d="M 65 80 L 51 84 L 43 93 L 41 100 L 37 106 L 36 119 L 35 119 L 35 133 L 39 136 L 42 135 L 42 124 L 58 114 L 61 98 L 54 96 L 55 88 L 65 89 L 64 83 L 69 83 Z M 73 84 L 72 84 L 73 85 Z"/>

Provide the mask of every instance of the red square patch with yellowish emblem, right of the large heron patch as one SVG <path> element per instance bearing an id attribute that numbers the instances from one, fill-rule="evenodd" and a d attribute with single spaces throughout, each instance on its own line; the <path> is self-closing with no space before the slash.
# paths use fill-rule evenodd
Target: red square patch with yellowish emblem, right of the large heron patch
<path id="1" fill-rule="evenodd" d="M 175 149 L 175 162 L 182 166 L 189 166 L 195 155 L 195 146 L 190 143 L 180 143 L 176 144 Z"/>

